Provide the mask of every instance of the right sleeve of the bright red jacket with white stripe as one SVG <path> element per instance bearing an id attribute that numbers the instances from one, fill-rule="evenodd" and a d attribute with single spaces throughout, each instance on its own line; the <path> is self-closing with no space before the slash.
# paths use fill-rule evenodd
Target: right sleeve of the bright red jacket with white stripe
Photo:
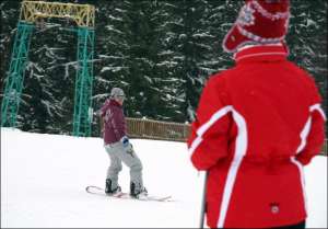
<path id="1" fill-rule="evenodd" d="M 321 98 L 313 80 L 311 81 L 311 92 L 309 118 L 301 134 L 301 138 L 304 135 L 303 146 L 296 156 L 296 159 L 303 165 L 308 164 L 312 158 L 321 151 L 325 141 L 326 115 L 320 106 Z"/>

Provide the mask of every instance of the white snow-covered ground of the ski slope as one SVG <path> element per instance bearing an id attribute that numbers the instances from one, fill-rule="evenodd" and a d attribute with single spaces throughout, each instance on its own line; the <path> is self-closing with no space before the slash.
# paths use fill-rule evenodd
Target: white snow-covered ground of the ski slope
<path id="1" fill-rule="evenodd" d="M 1 228 L 197 228 L 201 178 L 186 145 L 132 139 L 155 203 L 108 199 L 85 192 L 104 186 L 109 159 L 101 138 L 23 133 L 1 128 Z M 308 228 L 327 228 L 327 158 L 306 167 Z M 124 167 L 120 185 L 129 188 Z"/>

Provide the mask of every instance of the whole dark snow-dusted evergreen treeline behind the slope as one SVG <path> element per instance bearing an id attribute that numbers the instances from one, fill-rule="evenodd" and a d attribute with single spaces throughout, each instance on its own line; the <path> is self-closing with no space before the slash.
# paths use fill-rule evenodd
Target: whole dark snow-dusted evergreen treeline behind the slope
<path id="1" fill-rule="evenodd" d="M 234 65 L 221 42 L 243 1 L 97 0 L 93 108 L 113 87 L 128 96 L 126 115 L 190 122 L 209 76 Z M 1 1 L 1 102 L 21 1 Z M 315 78 L 327 111 L 326 0 L 293 0 L 288 44 L 290 59 Z M 19 127 L 70 134 L 74 107 L 77 34 L 72 22 L 46 20 L 34 30 Z M 97 121 L 93 135 L 97 135 Z"/>

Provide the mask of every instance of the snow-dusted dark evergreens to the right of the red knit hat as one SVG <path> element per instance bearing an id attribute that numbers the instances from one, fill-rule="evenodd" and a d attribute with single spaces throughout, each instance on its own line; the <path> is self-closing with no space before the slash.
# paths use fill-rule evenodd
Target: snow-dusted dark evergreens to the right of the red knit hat
<path id="1" fill-rule="evenodd" d="M 290 59 L 306 69 L 314 78 L 324 98 L 327 113 L 327 9 L 328 1 L 292 2 L 290 32 L 286 41 Z"/>

